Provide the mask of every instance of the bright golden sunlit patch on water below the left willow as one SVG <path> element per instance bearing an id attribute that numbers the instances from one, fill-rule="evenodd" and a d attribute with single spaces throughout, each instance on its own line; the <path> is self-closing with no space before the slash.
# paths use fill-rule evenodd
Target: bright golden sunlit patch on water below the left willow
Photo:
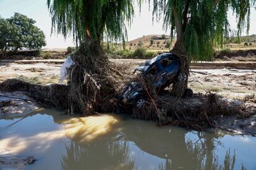
<path id="1" fill-rule="evenodd" d="M 64 121 L 65 134 L 77 142 L 91 142 L 111 131 L 117 119 L 110 115 L 70 118 Z"/>

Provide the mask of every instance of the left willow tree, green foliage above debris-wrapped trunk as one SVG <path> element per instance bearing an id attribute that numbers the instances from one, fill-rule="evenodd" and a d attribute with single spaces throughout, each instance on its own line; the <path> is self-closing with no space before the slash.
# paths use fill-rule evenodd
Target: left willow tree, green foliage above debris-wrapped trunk
<path id="1" fill-rule="evenodd" d="M 134 15 L 132 0 L 48 0 L 52 31 L 72 35 L 79 49 L 69 73 L 69 113 L 92 115 L 111 111 L 116 93 L 116 75 L 100 42 L 127 38 L 126 23 Z M 119 71 L 117 71 L 119 72 Z"/>

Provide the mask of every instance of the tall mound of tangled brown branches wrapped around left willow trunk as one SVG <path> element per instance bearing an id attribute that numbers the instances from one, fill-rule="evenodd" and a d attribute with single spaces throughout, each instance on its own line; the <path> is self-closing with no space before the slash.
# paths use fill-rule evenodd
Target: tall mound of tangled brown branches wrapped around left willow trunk
<path id="1" fill-rule="evenodd" d="M 116 93 L 127 76 L 126 67 L 110 63 L 95 41 L 86 41 L 72 60 L 75 65 L 69 72 L 69 113 L 89 116 L 95 111 L 112 111 L 116 105 Z"/>

